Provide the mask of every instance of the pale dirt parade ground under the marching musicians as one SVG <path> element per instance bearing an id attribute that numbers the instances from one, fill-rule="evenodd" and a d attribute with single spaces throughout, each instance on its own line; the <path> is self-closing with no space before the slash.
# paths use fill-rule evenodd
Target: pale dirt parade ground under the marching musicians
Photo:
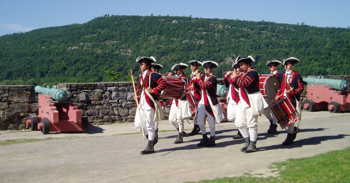
<path id="1" fill-rule="evenodd" d="M 276 176 L 268 167 L 289 158 L 310 157 L 350 146 L 350 113 L 302 112 L 293 145 L 281 146 L 286 130 L 267 134 L 258 118 L 257 152 L 241 153 L 244 140 L 231 122 L 216 125 L 216 146 L 197 147 L 201 135 L 173 144 L 177 131 L 159 133 L 155 153 L 140 155 L 146 145 L 133 123 L 91 126 L 87 134 L 0 131 L 0 141 L 42 139 L 0 146 L 0 182 L 186 182 L 241 176 Z M 193 124 L 185 124 L 190 132 Z M 159 130 L 175 130 L 167 120 Z M 209 129 L 208 129 L 209 131 Z M 208 133 L 209 134 L 209 133 Z"/>

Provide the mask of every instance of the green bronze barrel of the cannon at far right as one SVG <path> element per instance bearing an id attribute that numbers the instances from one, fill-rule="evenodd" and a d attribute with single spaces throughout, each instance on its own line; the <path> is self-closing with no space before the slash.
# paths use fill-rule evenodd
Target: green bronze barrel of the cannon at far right
<path id="1" fill-rule="evenodd" d="M 317 78 L 303 78 L 308 85 L 325 85 L 329 88 L 345 91 L 348 88 L 348 81 L 339 79 L 323 79 L 323 76 Z"/>

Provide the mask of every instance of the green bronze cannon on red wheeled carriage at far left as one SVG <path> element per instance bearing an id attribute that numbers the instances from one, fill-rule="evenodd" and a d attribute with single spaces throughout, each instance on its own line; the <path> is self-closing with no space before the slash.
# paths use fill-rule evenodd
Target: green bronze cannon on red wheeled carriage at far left
<path id="1" fill-rule="evenodd" d="M 49 132 L 87 133 L 90 127 L 86 117 L 75 106 L 74 101 L 67 100 L 67 92 L 56 89 L 56 86 L 35 87 L 38 94 L 38 115 L 30 114 L 26 125 L 31 131 L 41 130 L 43 134 Z"/>

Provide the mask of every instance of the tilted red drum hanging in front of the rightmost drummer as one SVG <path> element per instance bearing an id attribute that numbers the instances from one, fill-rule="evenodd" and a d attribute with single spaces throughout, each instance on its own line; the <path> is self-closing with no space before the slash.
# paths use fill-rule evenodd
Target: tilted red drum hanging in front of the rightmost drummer
<path id="1" fill-rule="evenodd" d="M 300 115 L 287 97 L 283 97 L 279 101 L 271 104 L 270 109 L 282 129 L 300 120 Z"/>

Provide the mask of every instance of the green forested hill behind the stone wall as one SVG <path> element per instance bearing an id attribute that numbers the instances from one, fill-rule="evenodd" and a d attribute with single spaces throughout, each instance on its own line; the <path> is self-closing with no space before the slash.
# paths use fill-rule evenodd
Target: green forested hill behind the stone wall
<path id="1" fill-rule="evenodd" d="M 0 37 L 0 84 L 44 85 L 109 81 L 106 71 L 127 80 L 139 74 L 138 56 L 154 56 L 169 72 L 175 63 L 213 60 L 214 74 L 232 69 L 238 56 L 268 73 L 268 60 L 300 59 L 307 75 L 350 74 L 350 29 L 203 19 L 185 16 L 109 16 L 87 23 L 49 27 Z M 283 67 L 279 67 L 284 72 Z M 203 68 L 202 68 L 203 70 Z M 188 74 L 190 69 L 185 69 Z"/>

